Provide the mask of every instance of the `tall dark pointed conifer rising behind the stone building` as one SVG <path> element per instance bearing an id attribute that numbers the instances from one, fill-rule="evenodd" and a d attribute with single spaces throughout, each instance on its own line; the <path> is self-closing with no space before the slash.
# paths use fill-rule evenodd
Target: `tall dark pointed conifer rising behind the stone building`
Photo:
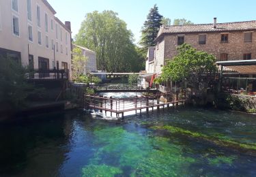
<path id="1" fill-rule="evenodd" d="M 158 30 L 162 21 L 162 16 L 158 13 L 158 7 L 156 4 L 150 9 L 150 13 L 147 15 L 147 20 L 145 20 L 144 25 L 141 30 L 141 41 L 139 44 L 143 46 L 145 50 L 149 46 L 155 46 L 154 39 L 158 34 Z"/>

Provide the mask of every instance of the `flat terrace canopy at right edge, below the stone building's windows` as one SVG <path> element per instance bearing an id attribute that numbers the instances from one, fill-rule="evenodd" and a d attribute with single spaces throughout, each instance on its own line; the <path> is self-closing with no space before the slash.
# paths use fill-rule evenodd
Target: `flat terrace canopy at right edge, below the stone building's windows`
<path id="1" fill-rule="evenodd" d="M 240 74 L 256 74 L 256 60 L 218 61 L 223 71 L 237 71 Z"/>

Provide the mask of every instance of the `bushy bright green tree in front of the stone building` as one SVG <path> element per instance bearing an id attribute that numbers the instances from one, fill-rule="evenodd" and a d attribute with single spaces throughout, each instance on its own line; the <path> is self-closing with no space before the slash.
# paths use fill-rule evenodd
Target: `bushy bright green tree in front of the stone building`
<path id="1" fill-rule="evenodd" d="M 178 54 L 162 68 L 162 80 L 186 80 L 189 86 L 198 90 L 203 75 L 211 76 L 216 71 L 216 58 L 188 44 L 182 44 L 177 50 Z"/>

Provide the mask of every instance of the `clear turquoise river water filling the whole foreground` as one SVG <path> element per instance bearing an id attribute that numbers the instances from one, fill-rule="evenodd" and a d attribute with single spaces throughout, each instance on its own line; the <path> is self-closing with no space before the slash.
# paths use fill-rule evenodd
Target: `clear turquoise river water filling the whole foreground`
<path id="1" fill-rule="evenodd" d="M 0 125 L 0 176 L 256 176 L 255 125 L 195 108 L 124 120 L 45 114 Z"/>

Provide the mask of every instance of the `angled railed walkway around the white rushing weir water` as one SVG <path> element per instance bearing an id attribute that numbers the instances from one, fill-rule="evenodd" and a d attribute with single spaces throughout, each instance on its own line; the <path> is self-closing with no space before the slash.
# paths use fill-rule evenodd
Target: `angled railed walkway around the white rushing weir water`
<path id="1" fill-rule="evenodd" d="M 115 99 L 112 97 L 99 97 L 96 95 L 84 95 L 84 106 L 87 109 L 100 110 L 100 112 L 112 112 L 119 117 L 124 112 L 165 108 L 169 106 L 178 106 L 188 101 L 187 93 L 165 93 L 158 95 L 142 96 L 142 97 L 128 97 L 123 99 Z"/>

